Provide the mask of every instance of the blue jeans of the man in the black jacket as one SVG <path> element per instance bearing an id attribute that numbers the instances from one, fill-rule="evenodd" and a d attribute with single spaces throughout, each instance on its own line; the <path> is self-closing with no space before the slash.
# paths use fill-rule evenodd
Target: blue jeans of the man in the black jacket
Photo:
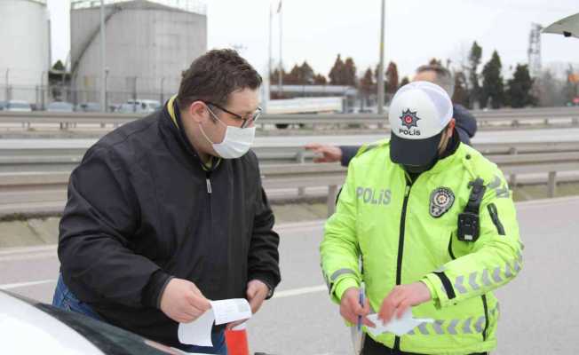
<path id="1" fill-rule="evenodd" d="M 89 306 L 84 304 L 75 294 L 67 288 L 67 285 L 62 280 L 62 274 L 59 274 L 59 281 L 54 289 L 54 296 L 52 297 L 52 305 L 65 311 L 81 313 L 85 316 L 91 317 L 92 319 L 97 319 L 106 322 L 105 319 L 99 316 L 97 312 Z M 186 352 L 201 352 L 207 354 L 216 355 L 227 355 L 226 337 L 225 332 L 221 331 L 218 333 L 213 333 L 211 335 L 211 341 L 213 342 L 213 347 L 208 346 L 195 346 L 181 344 L 178 349 Z"/>

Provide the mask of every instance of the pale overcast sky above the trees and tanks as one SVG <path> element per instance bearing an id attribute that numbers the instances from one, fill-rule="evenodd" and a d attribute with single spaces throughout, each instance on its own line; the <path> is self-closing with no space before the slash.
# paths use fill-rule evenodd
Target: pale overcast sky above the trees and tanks
<path id="1" fill-rule="evenodd" d="M 52 18 L 52 59 L 66 59 L 70 48 L 68 0 L 48 0 Z M 208 47 L 238 46 L 260 72 L 266 72 L 270 4 L 277 0 L 207 0 Z M 286 70 L 304 60 L 328 75 L 337 53 L 352 57 L 359 73 L 378 62 L 379 0 L 284 0 L 282 59 Z M 386 0 L 385 60 L 397 63 L 401 77 L 432 57 L 465 59 L 472 41 L 483 63 L 497 50 L 505 72 L 527 63 L 531 23 L 548 26 L 579 12 L 578 0 Z M 279 61 L 279 15 L 274 13 L 274 61 Z M 543 64 L 579 63 L 579 40 L 544 34 Z M 579 70 L 579 67 L 577 68 Z"/>

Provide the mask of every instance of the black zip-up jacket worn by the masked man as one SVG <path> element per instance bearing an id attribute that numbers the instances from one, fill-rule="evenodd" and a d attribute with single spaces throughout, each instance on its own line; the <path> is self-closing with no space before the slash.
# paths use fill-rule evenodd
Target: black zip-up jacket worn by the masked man
<path id="1" fill-rule="evenodd" d="M 253 152 L 205 170 L 167 106 L 101 138 L 68 183 L 59 259 L 68 288 L 107 322 L 178 345 L 158 308 L 171 277 L 209 299 L 280 282 L 274 215 Z"/>

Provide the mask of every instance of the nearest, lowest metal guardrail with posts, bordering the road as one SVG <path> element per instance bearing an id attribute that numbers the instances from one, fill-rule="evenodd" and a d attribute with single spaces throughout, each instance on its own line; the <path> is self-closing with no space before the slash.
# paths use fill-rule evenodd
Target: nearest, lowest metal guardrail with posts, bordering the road
<path id="1" fill-rule="evenodd" d="M 556 193 L 557 174 L 579 171 L 579 152 L 496 155 L 505 175 L 547 173 L 548 195 Z M 266 190 L 328 186 L 329 214 L 334 212 L 337 188 L 345 178 L 345 168 L 338 164 L 272 164 L 262 166 Z M 0 215 L 61 211 L 67 199 L 69 172 L 0 173 Z"/>

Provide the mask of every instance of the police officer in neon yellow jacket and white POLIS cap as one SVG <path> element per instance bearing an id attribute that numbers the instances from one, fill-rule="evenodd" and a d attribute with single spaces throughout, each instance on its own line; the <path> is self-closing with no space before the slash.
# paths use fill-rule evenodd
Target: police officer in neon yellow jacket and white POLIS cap
<path id="1" fill-rule="evenodd" d="M 410 307 L 434 319 L 406 335 L 367 334 L 363 354 L 496 348 L 492 291 L 520 272 L 519 226 L 503 173 L 460 142 L 452 116 L 438 85 L 403 86 L 390 106 L 390 141 L 353 159 L 325 226 L 322 271 L 345 320 L 361 316 L 366 330 L 372 310 L 387 323 Z"/>

